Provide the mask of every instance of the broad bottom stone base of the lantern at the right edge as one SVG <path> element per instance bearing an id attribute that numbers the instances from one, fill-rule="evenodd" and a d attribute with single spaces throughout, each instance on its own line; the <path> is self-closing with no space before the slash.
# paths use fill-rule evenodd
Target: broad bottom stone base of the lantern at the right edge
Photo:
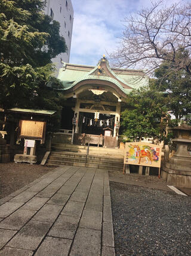
<path id="1" fill-rule="evenodd" d="M 162 167 L 161 177 L 179 188 L 191 188 L 191 168 L 190 171 L 180 171 Z"/>

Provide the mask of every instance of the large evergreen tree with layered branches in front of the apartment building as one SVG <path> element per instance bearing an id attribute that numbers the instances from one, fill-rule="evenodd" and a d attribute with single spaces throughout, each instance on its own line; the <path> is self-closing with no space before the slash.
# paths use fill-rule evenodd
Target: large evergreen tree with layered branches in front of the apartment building
<path id="1" fill-rule="evenodd" d="M 42 91 L 54 70 L 51 58 L 65 52 L 66 44 L 59 35 L 59 23 L 43 9 L 41 0 L 0 1 L 0 107 L 32 107 L 35 103 L 35 108 L 58 108 L 53 104 L 58 93 L 49 89 L 42 100 Z M 50 104 L 42 106 L 50 95 Z"/>

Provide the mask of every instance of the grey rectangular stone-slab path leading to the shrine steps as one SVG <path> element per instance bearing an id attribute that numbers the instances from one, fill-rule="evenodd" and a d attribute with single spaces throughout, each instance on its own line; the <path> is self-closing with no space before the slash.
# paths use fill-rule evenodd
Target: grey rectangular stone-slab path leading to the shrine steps
<path id="1" fill-rule="evenodd" d="M 115 255 L 107 170 L 58 167 L 0 200 L 0 255 Z"/>

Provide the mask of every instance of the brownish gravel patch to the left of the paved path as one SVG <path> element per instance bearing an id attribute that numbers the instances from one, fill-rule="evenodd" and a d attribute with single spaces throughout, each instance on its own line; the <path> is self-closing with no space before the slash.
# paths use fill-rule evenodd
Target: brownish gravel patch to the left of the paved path
<path id="1" fill-rule="evenodd" d="M 39 164 L 0 164 L 0 198 L 10 195 L 23 186 L 33 182 L 53 168 Z"/>

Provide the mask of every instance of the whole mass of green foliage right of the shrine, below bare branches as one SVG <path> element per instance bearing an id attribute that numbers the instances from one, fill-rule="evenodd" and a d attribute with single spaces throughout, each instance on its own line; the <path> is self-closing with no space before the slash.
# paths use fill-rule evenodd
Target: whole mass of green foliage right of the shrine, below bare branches
<path id="1" fill-rule="evenodd" d="M 128 95 L 122 125 L 124 135 L 131 140 L 158 137 L 168 143 L 173 135 L 171 131 L 167 135 L 167 125 L 172 128 L 183 121 L 191 125 L 191 76 L 184 70 L 175 71 L 172 65 L 162 63 L 155 70 L 156 79 L 150 79 L 149 88 Z M 175 119 L 167 113 L 174 115 Z"/>

